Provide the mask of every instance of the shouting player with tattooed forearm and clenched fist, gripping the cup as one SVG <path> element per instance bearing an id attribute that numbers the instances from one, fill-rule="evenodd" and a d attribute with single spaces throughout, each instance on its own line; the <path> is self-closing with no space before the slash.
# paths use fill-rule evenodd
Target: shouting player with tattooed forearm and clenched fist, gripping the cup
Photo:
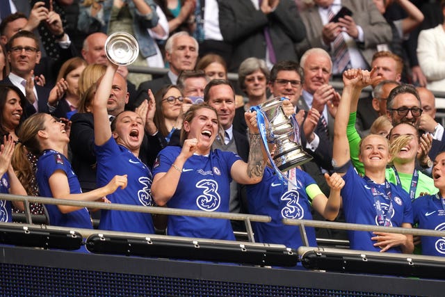
<path id="1" fill-rule="evenodd" d="M 229 212 L 230 182 L 256 184 L 266 163 L 254 113 L 245 113 L 250 131 L 248 163 L 233 152 L 211 150 L 220 123 L 216 110 L 194 104 L 184 115 L 182 147 L 165 147 L 154 163 L 153 198 L 179 209 Z M 229 220 L 169 216 L 167 234 L 234 240 Z"/>

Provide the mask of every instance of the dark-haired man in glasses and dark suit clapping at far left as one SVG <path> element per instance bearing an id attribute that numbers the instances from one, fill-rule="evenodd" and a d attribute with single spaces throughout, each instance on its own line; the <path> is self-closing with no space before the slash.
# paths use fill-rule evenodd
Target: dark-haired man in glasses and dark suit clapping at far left
<path id="1" fill-rule="evenodd" d="M 48 88 L 34 83 L 33 71 L 40 62 L 40 49 L 38 39 L 30 31 L 19 31 L 8 40 L 6 44 L 7 59 L 10 63 L 10 74 L 3 79 L 3 83 L 12 83 L 25 95 L 27 101 L 24 113 L 50 113 L 57 106 L 57 98 L 48 101 Z"/>

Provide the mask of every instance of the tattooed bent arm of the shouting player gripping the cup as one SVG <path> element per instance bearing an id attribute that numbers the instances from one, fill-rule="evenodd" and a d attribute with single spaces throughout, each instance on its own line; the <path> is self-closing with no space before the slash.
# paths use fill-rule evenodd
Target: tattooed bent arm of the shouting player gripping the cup
<path id="1" fill-rule="evenodd" d="M 248 163 L 238 160 L 230 168 L 230 175 L 238 184 L 257 184 L 263 179 L 264 165 L 266 164 L 266 154 L 264 154 L 263 145 L 261 145 L 261 136 L 259 135 L 257 112 L 246 112 L 244 114 L 245 122 L 249 127 L 250 150 Z"/>

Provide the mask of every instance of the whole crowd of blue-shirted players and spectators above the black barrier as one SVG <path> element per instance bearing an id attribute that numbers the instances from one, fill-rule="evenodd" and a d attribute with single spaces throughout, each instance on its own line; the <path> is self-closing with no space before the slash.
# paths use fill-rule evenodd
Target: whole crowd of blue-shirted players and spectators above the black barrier
<path id="1" fill-rule="evenodd" d="M 291 248 L 302 244 L 298 227 L 282 218 L 444 225 L 444 127 L 433 92 L 445 86 L 445 0 L 6 2 L 1 193 L 264 214 L 273 219 L 253 224 L 257 241 Z M 168 72 L 108 61 L 106 40 L 119 31 L 138 41 L 133 65 Z M 273 169 L 275 147 L 257 122 L 268 100 L 282 100 L 300 128 L 291 141 L 311 161 Z M 0 207 L 4 222 L 24 210 Z M 92 228 L 92 216 L 102 230 L 225 240 L 245 231 L 211 218 L 31 211 L 70 227 Z M 348 236 L 357 250 L 416 245 L 445 255 L 434 237 L 325 231 L 307 232 L 312 246 L 318 232 Z"/>

